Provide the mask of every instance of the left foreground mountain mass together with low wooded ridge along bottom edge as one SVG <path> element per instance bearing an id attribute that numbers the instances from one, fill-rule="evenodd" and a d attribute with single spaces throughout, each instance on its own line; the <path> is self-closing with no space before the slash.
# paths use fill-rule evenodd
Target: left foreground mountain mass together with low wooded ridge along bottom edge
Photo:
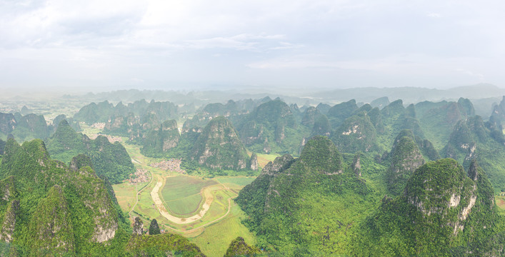
<path id="1" fill-rule="evenodd" d="M 70 167 L 44 142 L 9 139 L 0 164 L 0 246 L 10 256 L 204 256 L 179 235 L 131 236 L 131 226 L 84 155 Z"/>

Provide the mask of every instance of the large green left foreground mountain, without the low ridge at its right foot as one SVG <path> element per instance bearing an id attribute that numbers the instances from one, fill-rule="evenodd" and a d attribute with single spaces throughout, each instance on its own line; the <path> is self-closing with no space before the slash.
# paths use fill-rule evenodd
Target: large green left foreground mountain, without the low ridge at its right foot
<path id="1" fill-rule="evenodd" d="M 9 139 L 0 171 L 0 191 L 6 192 L 0 209 L 12 221 L 2 226 L 2 238 L 14 251 L 86 255 L 119 242 L 122 213 L 89 166 L 72 170 L 51 160 L 39 139 L 22 146 Z"/>

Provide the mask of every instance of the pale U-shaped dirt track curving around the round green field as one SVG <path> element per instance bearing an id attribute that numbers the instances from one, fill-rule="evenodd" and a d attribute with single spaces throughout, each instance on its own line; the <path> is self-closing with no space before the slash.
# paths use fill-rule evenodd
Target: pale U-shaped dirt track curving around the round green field
<path id="1" fill-rule="evenodd" d="M 205 203 L 201 206 L 201 210 L 199 213 L 195 214 L 194 216 L 191 216 L 189 218 L 179 218 L 176 216 L 171 216 L 168 211 L 166 211 L 165 206 L 163 205 L 163 201 L 159 198 L 158 191 L 163 186 L 163 181 L 158 181 L 156 183 L 156 186 L 154 186 L 153 190 L 151 191 L 151 198 L 153 198 L 154 203 L 156 204 L 156 208 L 158 208 L 159 213 L 161 216 L 164 216 L 166 219 L 168 219 L 171 222 L 177 223 L 177 224 L 186 224 L 186 223 L 191 223 L 194 221 L 198 221 L 201 217 L 205 215 L 207 211 L 209 211 L 209 208 L 211 208 L 211 203 L 214 201 L 214 197 L 212 196 L 212 193 L 205 192 Z"/>

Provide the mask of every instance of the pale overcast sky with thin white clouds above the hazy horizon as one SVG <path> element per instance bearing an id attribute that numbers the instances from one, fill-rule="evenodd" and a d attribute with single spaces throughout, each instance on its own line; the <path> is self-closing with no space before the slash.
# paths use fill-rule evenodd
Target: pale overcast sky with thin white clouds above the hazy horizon
<path id="1" fill-rule="evenodd" d="M 504 1 L 0 0 L 0 88 L 505 87 Z"/>

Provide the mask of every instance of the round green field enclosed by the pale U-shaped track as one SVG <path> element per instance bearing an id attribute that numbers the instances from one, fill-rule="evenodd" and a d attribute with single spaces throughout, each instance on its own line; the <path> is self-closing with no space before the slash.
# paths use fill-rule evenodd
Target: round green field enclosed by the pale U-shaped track
<path id="1" fill-rule="evenodd" d="M 166 178 L 161 196 L 166 206 L 176 216 L 191 216 L 198 211 L 201 203 L 201 191 L 217 182 L 191 176 L 172 176 Z"/>

